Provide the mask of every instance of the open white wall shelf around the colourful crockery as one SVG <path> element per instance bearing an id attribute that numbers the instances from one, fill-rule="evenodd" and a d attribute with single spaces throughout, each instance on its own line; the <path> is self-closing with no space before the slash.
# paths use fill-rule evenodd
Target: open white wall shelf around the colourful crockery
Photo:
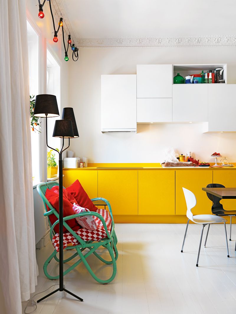
<path id="1" fill-rule="evenodd" d="M 223 79 L 225 80 L 225 84 L 227 84 L 227 64 L 226 63 L 215 63 L 215 64 L 173 64 L 172 67 L 172 82 L 173 78 L 179 73 L 184 78 L 189 74 L 200 74 L 202 70 L 204 72 L 212 70 L 214 71 L 217 68 L 223 68 Z"/>

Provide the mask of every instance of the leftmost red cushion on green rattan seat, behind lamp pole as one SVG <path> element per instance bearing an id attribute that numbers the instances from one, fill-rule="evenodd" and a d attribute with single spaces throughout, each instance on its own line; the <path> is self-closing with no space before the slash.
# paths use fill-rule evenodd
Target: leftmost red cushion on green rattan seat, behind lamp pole
<path id="1" fill-rule="evenodd" d="M 56 209 L 56 211 L 59 213 L 59 194 L 54 193 L 53 191 L 47 189 L 45 193 L 45 197 L 47 198 L 48 202 L 52 205 L 53 208 Z M 50 210 L 50 208 L 47 205 L 47 210 Z M 73 205 L 70 203 L 68 199 L 66 199 L 63 196 L 63 217 L 74 215 Z M 53 225 L 55 221 L 58 220 L 58 218 L 51 214 L 49 215 L 49 220 L 51 224 Z M 70 226 L 71 229 L 79 230 L 81 227 L 77 224 L 77 221 L 75 218 L 66 220 L 66 223 Z M 56 233 L 59 232 L 59 224 L 57 224 L 54 228 L 54 231 Z M 63 227 L 63 232 L 68 232 L 68 230 Z"/>

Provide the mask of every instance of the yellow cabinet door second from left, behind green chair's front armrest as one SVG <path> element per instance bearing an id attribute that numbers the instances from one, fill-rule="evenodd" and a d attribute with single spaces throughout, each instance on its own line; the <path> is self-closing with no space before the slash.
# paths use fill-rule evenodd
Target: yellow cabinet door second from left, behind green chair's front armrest
<path id="1" fill-rule="evenodd" d="M 137 215 L 138 171 L 98 171 L 98 197 L 110 202 L 114 215 Z"/>

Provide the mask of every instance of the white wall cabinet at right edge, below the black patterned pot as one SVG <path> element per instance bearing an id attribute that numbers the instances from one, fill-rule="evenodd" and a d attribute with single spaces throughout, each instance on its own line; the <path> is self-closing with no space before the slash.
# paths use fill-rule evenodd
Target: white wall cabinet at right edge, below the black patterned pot
<path id="1" fill-rule="evenodd" d="M 236 132 L 236 84 L 208 84 L 208 123 L 204 132 Z"/>

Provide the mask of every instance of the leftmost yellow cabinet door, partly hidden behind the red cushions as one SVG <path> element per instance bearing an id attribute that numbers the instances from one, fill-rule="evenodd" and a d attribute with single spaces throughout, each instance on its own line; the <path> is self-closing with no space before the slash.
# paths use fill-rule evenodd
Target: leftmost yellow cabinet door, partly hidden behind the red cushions
<path id="1" fill-rule="evenodd" d="M 97 170 L 64 170 L 64 187 L 69 187 L 77 179 L 87 192 L 89 198 L 98 197 L 98 171 Z"/>

